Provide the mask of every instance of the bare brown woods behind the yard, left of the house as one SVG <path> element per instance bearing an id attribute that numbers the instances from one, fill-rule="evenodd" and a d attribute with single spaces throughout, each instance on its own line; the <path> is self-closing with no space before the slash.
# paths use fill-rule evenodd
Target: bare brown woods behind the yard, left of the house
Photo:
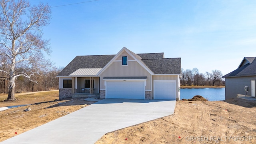
<path id="1" fill-rule="evenodd" d="M 4 68 L 0 66 L 0 69 Z M 19 76 L 15 80 L 15 93 L 58 90 L 59 79 L 56 76 L 61 70 L 62 68 L 52 67 L 47 72 L 40 71 L 32 80 Z M 8 75 L 0 72 L 0 93 L 8 93 L 8 82 Z"/>

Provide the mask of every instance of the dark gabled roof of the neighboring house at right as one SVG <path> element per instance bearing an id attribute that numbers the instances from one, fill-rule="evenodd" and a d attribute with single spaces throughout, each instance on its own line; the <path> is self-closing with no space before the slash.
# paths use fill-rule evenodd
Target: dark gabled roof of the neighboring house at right
<path id="1" fill-rule="evenodd" d="M 256 57 L 244 57 L 236 70 L 222 76 L 222 78 L 241 76 L 256 76 Z"/>

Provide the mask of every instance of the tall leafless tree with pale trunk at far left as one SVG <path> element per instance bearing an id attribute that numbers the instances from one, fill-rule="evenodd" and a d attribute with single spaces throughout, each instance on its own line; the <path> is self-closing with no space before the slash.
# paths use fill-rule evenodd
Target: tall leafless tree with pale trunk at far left
<path id="1" fill-rule="evenodd" d="M 6 57 L 9 77 L 8 98 L 15 101 L 15 79 L 23 76 L 32 80 L 38 69 L 51 64 L 44 58 L 50 54 L 49 40 L 42 39 L 42 27 L 50 21 L 48 4 L 30 6 L 27 0 L 0 0 L 0 56 Z M 36 68 L 34 68 L 36 67 Z"/>

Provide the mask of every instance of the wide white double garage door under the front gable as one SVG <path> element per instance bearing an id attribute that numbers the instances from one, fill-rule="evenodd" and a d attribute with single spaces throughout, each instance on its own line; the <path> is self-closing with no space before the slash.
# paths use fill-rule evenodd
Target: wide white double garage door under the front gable
<path id="1" fill-rule="evenodd" d="M 145 99 L 145 82 L 106 81 L 106 98 Z"/>

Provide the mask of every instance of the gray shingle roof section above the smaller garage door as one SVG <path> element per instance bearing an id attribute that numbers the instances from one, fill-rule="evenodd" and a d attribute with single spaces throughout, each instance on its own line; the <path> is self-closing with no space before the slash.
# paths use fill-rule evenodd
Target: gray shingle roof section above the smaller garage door
<path id="1" fill-rule="evenodd" d="M 181 58 L 142 60 L 155 74 L 181 74 Z"/>

